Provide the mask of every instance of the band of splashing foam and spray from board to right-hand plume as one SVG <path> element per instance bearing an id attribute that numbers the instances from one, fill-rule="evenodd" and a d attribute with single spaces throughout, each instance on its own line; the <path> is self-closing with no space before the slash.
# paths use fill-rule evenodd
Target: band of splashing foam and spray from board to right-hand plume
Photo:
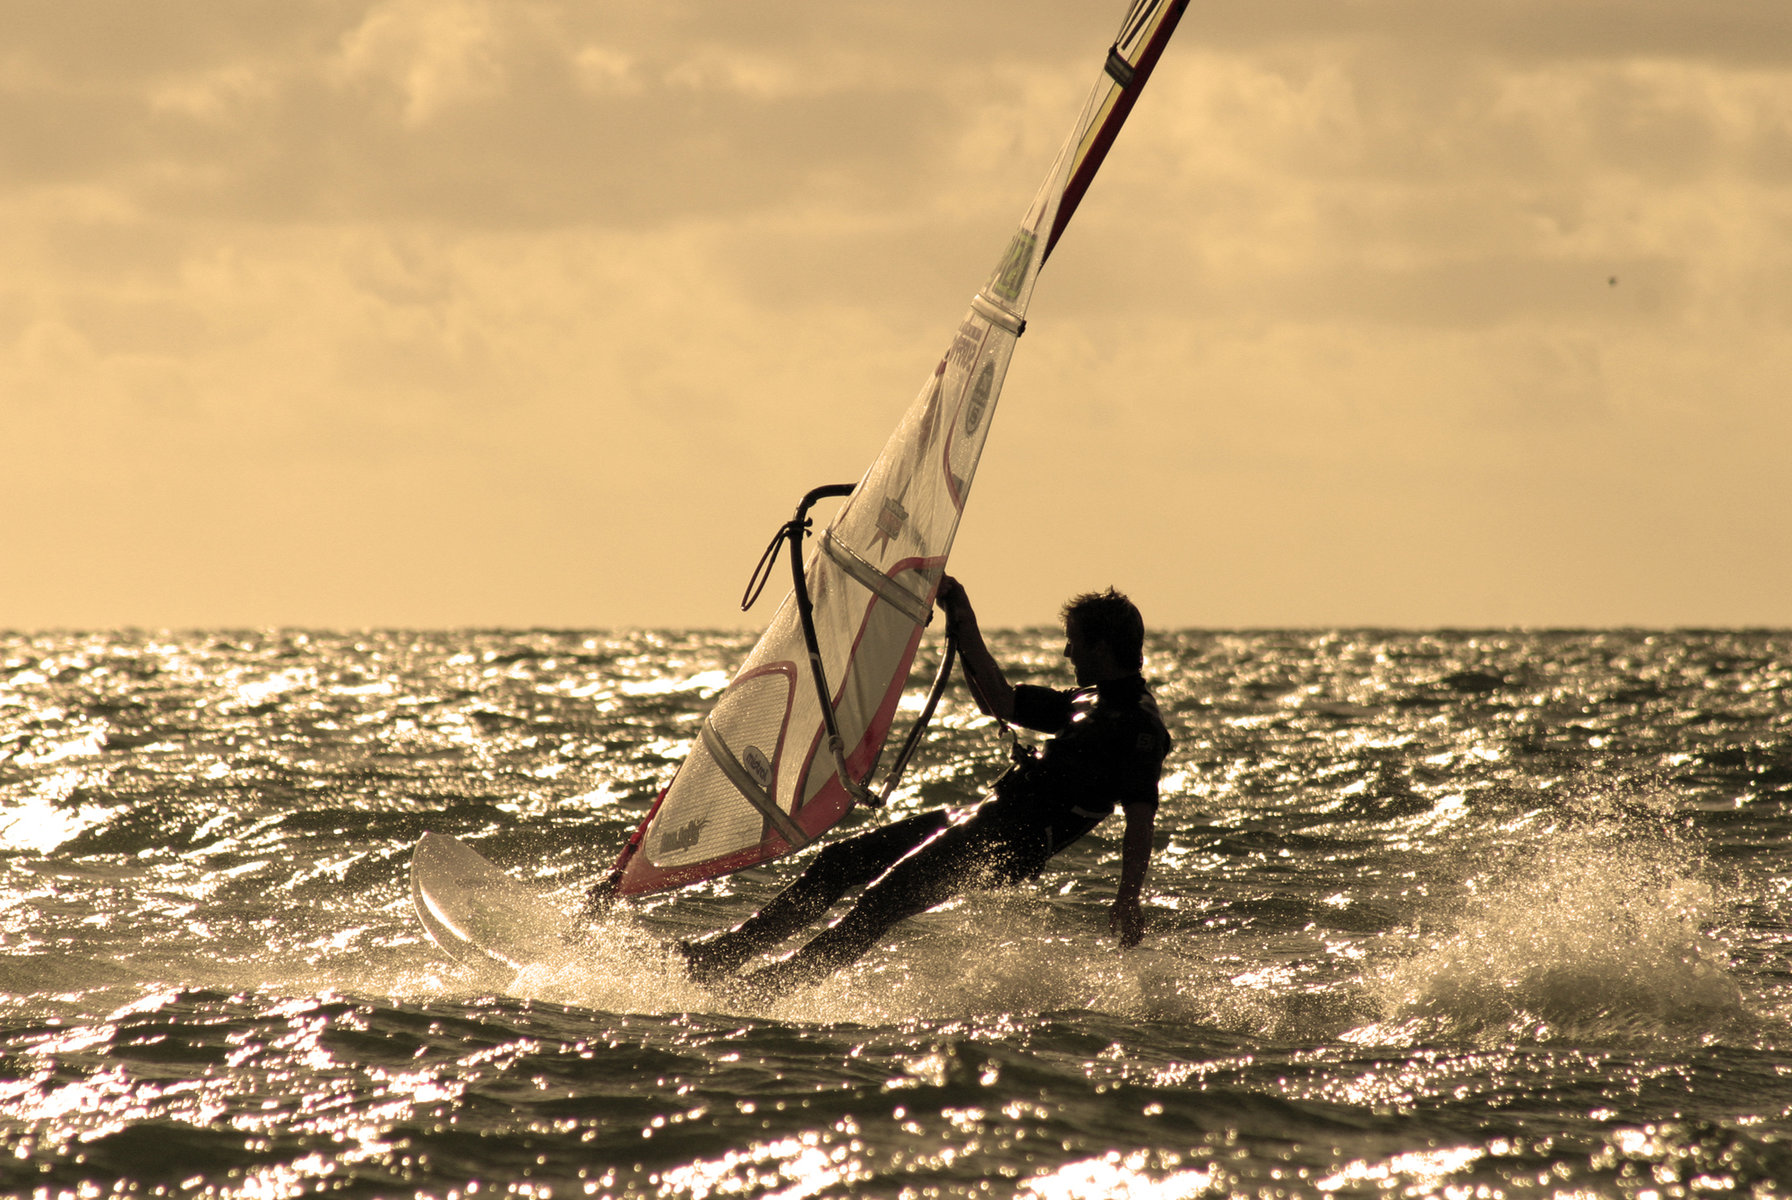
<path id="1" fill-rule="evenodd" d="M 1100 924 L 1104 904 L 1066 922 L 1063 906 L 1014 888 L 916 917 L 860 964 L 776 1003 L 692 983 L 668 926 L 629 908 L 498 990 L 609 1012 L 805 1023 L 1088 1010 L 1358 1044 L 1681 1039 L 1758 1021 L 1731 973 L 1722 892 L 1658 826 L 1595 813 L 1545 824 L 1491 861 L 1468 844 L 1441 854 L 1439 870 L 1462 872 L 1452 899 L 1414 913 L 1412 928 L 1344 946 L 1322 974 L 1308 937 L 1159 928 L 1120 951 Z M 563 899 L 575 908 L 575 896 Z M 434 983 L 446 996 L 493 985 L 466 973 Z"/>

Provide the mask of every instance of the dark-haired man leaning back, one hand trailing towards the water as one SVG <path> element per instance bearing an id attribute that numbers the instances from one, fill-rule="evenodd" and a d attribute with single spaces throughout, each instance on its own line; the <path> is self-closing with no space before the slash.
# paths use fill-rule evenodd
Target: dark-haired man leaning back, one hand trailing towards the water
<path id="1" fill-rule="evenodd" d="M 1125 835 L 1107 924 L 1120 946 L 1136 946 L 1143 937 L 1140 896 L 1170 734 L 1140 673 L 1145 625 L 1138 609 L 1111 587 L 1064 605 L 1064 657 L 1077 686 L 1059 691 L 1009 684 L 984 643 L 964 587 L 950 575 L 941 579 L 939 604 L 977 706 L 1002 722 L 1052 734 L 1045 750 L 1018 754 L 1014 768 L 996 781 L 995 795 L 969 813 L 916 813 L 828 845 L 756 915 L 717 937 L 683 942 L 692 978 L 729 980 L 749 958 L 808 926 L 846 892 L 866 887 L 840 921 L 794 955 L 733 980 L 731 990 L 772 998 L 817 983 L 871 949 L 898 921 L 969 888 L 1038 876 L 1116 804 L 1125 813 Z"/>

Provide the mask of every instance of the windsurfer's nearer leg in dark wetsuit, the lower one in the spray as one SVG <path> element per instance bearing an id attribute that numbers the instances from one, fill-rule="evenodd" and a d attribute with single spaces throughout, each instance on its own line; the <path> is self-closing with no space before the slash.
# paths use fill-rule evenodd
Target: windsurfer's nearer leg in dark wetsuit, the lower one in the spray
<path id="1" fill-rule="evenodd" d="M 891 867 L 858 903 L 781 962 L 742 980 L 742 990 L 776 998 L 819 983 L 860 955 L 900 921 L 975 888 L 1005 887 L 1036 876 L 1052 856 L 1045 831 L 1016 827 L 978 813 L 941 833 Z"/>

